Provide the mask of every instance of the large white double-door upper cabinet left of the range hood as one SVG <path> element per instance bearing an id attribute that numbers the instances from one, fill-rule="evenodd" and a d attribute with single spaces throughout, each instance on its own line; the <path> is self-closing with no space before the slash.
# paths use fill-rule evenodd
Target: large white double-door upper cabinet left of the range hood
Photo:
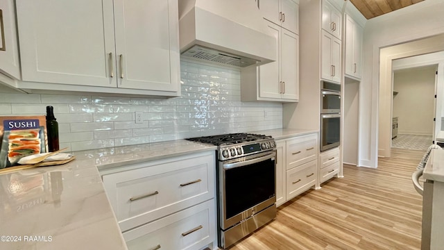
<path id="1" fill-rule="evenodd" d="M 17 23 L 23 85 L 177 95 L 177 0 L 17 1 Z"/>

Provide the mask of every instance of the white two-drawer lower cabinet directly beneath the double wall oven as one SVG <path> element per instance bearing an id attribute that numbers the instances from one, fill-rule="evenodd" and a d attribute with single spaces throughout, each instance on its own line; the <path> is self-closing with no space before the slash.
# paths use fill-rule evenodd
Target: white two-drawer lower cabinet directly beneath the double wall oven
<path id="1" fill-rule="evenodd" d="M 324 151 L 319 156 L 319 184 L 339 174 L 339 147 Z"/>

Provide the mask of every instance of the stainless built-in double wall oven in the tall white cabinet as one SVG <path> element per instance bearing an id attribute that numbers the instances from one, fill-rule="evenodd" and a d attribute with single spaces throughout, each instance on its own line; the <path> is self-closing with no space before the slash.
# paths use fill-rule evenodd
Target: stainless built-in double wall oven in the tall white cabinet
<path id="1" fill-rule="evenodd" d="M 341 143 L 341 85 L 321 81 L 321 151 Z"/>

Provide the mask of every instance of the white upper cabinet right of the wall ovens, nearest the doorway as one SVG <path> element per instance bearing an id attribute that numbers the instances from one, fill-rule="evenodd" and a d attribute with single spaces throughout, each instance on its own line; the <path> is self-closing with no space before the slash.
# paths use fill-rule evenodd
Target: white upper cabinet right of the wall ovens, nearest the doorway
<path id="1" fill-rule="evenodd" d="M 360 79 L 362 76 L 363 28 L 350 15 L 345 15 L 345 74 Z"/>

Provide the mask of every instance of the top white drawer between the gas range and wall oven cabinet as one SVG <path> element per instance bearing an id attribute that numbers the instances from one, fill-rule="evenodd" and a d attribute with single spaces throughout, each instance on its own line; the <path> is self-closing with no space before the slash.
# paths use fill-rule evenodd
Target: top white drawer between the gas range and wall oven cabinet
<path id="1" fill-rule="evenodd" d="M 287 141 L 287 170 L 318 158 L 318 135 L 304 135 Z"/>

